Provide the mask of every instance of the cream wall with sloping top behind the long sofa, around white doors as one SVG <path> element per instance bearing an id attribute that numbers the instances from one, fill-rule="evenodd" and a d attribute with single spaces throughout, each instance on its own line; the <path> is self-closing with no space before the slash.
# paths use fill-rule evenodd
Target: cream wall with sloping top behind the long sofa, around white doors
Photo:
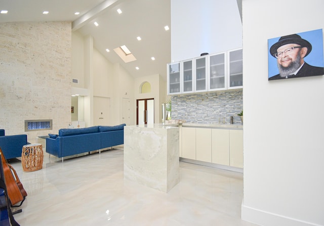
<path id="1" fill-rule="evenodd" d="M 72 86 L 87 91 L 84 101 L 86 126 L 93 125 L 93 96 L 110 98 L 111 125 L 121 123 L 121 101 L 123 98 L 130 99 L 130 124 L 133 125 L 134 78 L 119 64 L 108 61 L 93 47 L 93 42 L 93 37 L 83 37 L 80 33 L 73 32 L 72 71 L 73 78 L 79 79 L 79 84 Z M 77 89 L 72 89 L 74 90 Z"/>

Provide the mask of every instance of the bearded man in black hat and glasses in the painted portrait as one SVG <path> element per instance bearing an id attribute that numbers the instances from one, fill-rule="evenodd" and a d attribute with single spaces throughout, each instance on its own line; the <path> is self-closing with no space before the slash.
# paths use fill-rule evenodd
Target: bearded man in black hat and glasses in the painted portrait
<path id="1" fill-rule="evenodd" d="M 279 74 L 269 80 L 319 76 L 324 74 L 323 67 L 315 67 L 304 61 L 312 45 L 298 34 L 280 37 L 279 41 L 270 48 L 271 56 L 277 59 Z"/>

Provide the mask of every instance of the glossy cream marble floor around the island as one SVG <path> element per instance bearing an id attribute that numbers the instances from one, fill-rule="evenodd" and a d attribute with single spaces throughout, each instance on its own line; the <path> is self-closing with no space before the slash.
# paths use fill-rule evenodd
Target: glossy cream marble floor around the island
<path id="1" fill-rule="evenodd" d="M 240 219 L 241 173 L 180 162 L 180 183 L 164 193 L 124 179 L 123 145 L 116 148 L 64 163 L 44 151 L 43 169 L 34 172 L 11 161 L 28 193 L 16 221 L 22 226 L 256 225 Z"/>

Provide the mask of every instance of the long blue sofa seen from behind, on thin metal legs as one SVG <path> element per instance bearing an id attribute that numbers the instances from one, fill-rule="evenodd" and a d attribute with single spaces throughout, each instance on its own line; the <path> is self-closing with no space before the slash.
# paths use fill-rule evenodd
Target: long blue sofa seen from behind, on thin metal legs
<path id="1" fill-rule="evenodd" d="M 49 134 L 46 138 L 46 152 L 63 158 L 124 144 L 124 126 L 126 124 L 60 129 L 58 135 Z"/>

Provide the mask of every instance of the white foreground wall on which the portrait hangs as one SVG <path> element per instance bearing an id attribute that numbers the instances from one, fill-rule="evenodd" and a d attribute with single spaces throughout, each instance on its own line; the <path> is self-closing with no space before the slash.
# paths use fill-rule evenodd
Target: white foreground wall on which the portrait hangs
<path id="1" fill-rule="evenodd" d="M 267 65 L 267 40 L 323 28 L 323 9 L 322 0 L 242 1 L 242 219 L 324 225 L 324 77 L 268 81 Z"/>

